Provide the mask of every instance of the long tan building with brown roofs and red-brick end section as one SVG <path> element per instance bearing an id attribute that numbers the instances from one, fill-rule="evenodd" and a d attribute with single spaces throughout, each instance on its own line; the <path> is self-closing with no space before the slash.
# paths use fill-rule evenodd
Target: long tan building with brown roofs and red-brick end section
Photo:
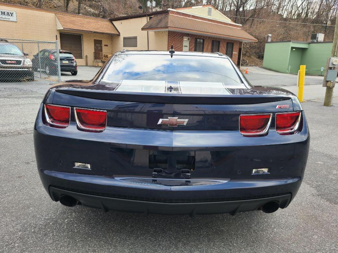
<path id="1" fill-rule="evenodd" d="M 257 41 L 212 5 L 100 19 L 0 3 L 0 37 L 59 40 L 78 65 L 101 65 L 122 49 L 221 52 L 240 65 L 243 42 Z M 7 18 L 8 17 L 8 18 Z"/>

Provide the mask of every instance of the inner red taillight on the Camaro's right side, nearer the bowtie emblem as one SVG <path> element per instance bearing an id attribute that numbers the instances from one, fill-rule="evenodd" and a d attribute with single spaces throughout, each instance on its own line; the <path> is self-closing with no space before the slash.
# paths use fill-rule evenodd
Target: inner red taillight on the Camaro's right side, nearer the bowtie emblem
<path id="1" fill-rule="evenodd" d="M 265 134 L 269 130 L 271 114 L 250 114 L 239 116 L 239 131 L 243 135 Z"/>

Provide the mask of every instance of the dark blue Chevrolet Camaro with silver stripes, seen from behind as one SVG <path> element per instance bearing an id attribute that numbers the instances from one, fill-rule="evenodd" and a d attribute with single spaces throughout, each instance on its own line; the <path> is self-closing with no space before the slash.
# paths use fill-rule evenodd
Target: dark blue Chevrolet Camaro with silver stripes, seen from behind
<path id="1" fill-rule="evenodd" d="M 220 53 L 117 52 L 52 86 L 34 127 L 54 201 L 145 214 L 285 208 L 309 141 L 293 93 L 252 86 Z"/>

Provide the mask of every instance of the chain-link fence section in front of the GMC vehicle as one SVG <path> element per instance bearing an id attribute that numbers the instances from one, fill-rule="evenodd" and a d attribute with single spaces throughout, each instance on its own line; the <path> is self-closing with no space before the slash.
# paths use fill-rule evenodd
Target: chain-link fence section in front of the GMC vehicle
<path id="1" fill-rule="evenodd" d="M 57 40 L 0 38 L 0 82 L 60 81 Z"/>

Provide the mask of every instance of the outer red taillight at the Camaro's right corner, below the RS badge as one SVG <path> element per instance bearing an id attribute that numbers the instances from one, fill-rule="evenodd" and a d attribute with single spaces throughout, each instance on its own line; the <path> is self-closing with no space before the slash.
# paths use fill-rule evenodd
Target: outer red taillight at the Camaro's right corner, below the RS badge
<path id="1" fill-rule="evenodd" d="M 289 133 L 298 129 L 300 112 L 276 113 L 277 133 Z"/>

